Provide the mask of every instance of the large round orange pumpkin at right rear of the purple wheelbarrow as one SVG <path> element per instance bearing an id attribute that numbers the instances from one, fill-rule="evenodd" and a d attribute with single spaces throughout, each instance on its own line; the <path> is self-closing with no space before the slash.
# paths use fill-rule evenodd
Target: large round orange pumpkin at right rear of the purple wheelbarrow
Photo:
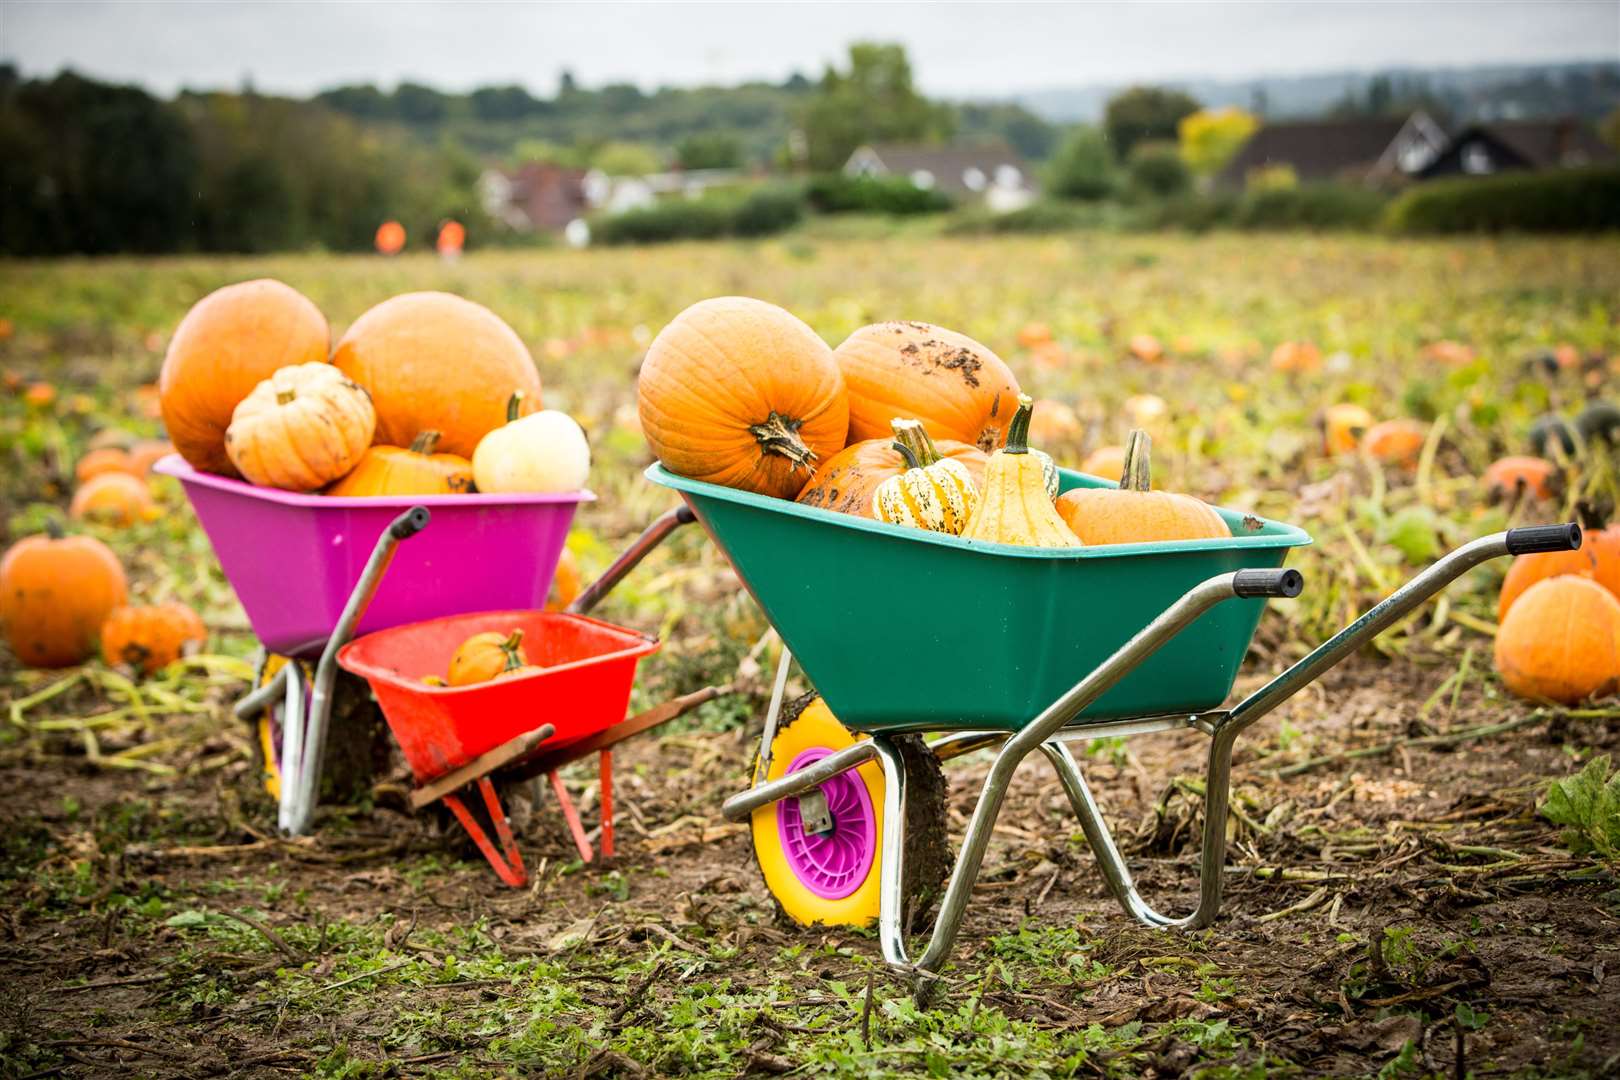
<path id="1" fill-rule="evenodd" d="M 473 457 L 505 423 L 507 398 L 539 408 L 539 372 L 523 340 L 483 304 L 450 293 L 403 293 L 355 319 L 332 363 L 371 393 L 376 440 L 408 447 L 424 431 L 439 450 Z"/>

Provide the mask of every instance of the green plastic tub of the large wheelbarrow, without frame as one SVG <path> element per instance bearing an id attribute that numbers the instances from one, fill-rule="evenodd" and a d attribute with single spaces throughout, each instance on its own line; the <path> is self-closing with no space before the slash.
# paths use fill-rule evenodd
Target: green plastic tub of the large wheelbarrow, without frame
<path id="1" fill-rule="evenodd" d="M 1113 487 L 1061 470 L 1061 487 Z M 676 476 L 766 619 L 844 725 L 860 732 L 1017 730 L 1189 588 L 1281 567 L 1311 542 L 1280 521 L 1231 539 L 1045 549 L 969 544 Z M 1252 518 L 1249 518 L 1252 521 Z M 1264 601 L 1218 604 L 1081 721 L 1218 708 Z"/>

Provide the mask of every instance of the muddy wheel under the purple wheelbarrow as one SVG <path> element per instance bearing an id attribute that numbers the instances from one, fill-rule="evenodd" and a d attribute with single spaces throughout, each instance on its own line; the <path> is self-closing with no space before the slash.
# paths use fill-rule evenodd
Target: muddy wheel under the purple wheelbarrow
<path id="1" fill-rule="evenodd" d="M 262 687 L 275 678 L 275 672 L 288 662 L 305 664 L 303 661 L 288 661 L 285 656 L 267 656 L 259 670 L 258 685 Z M 309 687 L 313 683 L 311 665 L 305 664 L 305 709 L 309 708 Z M 274 800 L 282 797 L 282 711 L 285 708 L 282 701 L 274 701 L 253 721 L 254 774 Z M 353 803 L 369 795 L 376 777 L 387 769 L 389 743 L 386 735 L 382 712 L 371 699 L 366 682 L 339 672 L 332 687 L 332 716 L 326 730 L 321 798 Z"/>

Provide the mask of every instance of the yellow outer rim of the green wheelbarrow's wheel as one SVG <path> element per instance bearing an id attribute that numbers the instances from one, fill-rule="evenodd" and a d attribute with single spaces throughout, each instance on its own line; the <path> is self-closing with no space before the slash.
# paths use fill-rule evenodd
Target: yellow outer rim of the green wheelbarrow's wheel
<path id="1" fill-rule="evenodd" d="M 787 774 L 794 759 L 807 751 L 836 751 L 855 742 L 849 729 L 838 722 L 831 709 L 816 698 L 804 708 L 786 727 L 778 730 L 771 742 L 771 767 L 766 779 L 776 780 Z M 863 737 L 860 737 L 863 738 Z M 758 764 L 755 764 L 758 776 Z M 847 777 L 859 780 L 865 787 L 865 795 L 872 801 L 872 814 L 876 829 L 876 844 L 883 837 L 883 769 L 876 761 L 868 761 L 859 769 L 852 769 Z M 795 808 L 797 810 L 797 808 Z M 782 803 L 771 803 L 753 811 L 753 853 L 760 860 L 760 874 L 765 887 L 771 891 L 776 902 L 782 905 L 795 923 L 812 926 L 868 926 L 878 918 L 878 858 L 873 853 L 865 878 L 854 886 L 847 895 L 828 897 L 818 894 L 795 873 L 795 860 L 782 842 L 782 824 L 779 814 Z"/>

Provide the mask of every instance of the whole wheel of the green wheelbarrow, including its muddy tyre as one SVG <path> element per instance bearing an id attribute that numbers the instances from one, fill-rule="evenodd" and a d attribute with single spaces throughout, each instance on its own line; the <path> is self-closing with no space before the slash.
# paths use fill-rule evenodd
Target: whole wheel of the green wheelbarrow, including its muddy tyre
<path id="1" fill-rule="evenodd" d="M 821 698 L 807 695 L 782 708 L 765 779 L 776 780 L 849 746 L 857 738 Z M 906 763 L 907 925 L 938 899 L 951 866 L 944 832 L 944 771 L 920 737 L 894 740 Z M 755 780 L 766 764 L 755 759 Z M 810 832 L 799 798 L 753 811 L 753 857 L 782 915 L 804 926 L 868 926 L 878 918 L 878 863 L 883 839 L 883 767 L 876 761 L 821 784 L 831 827 Z"/>

